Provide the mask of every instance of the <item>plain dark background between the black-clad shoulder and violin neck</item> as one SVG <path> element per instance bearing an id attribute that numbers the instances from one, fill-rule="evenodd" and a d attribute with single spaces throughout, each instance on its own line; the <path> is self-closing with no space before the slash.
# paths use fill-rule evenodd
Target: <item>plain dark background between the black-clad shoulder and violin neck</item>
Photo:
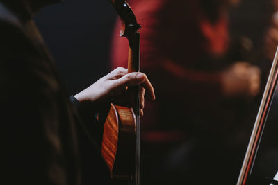
<path id="1" fill-rule="evenodd" d="M 35 16 L 70 94 L 111 71 L 109 44 L 116 17 L 108 0 L 66 0 Z"/>

